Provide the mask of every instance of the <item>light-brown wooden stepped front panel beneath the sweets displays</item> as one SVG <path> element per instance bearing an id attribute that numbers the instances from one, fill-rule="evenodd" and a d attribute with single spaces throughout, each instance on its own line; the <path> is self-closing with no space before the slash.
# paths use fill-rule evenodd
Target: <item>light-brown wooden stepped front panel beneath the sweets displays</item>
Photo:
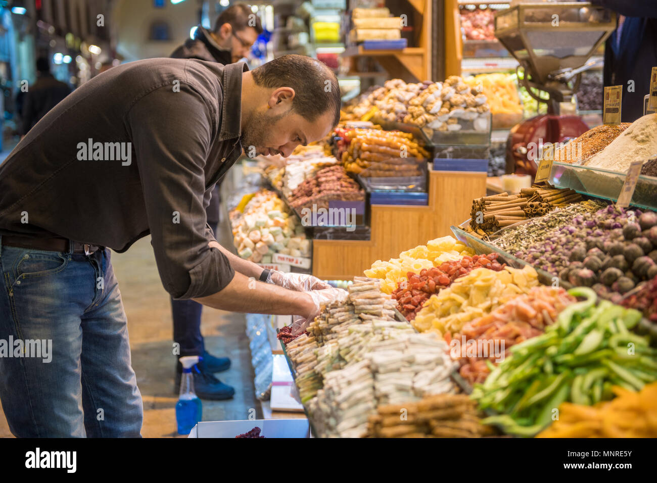
<path id="1" fill-rule="evenodd" d="M 313 275 L 351 279 L 376 260 L 449 235 L 451 225 L 470 218 L 472 200 L 484 193 L 486 173 L 431 171 L 428 206 L 371 206 L 369 241 L 313 240 Z"/>

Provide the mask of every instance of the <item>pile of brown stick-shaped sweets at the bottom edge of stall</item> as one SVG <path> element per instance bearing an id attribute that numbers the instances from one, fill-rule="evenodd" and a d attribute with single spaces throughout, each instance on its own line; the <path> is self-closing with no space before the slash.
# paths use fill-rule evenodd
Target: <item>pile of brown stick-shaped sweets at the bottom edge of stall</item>
<path id="1" fill-rule="evenodd" d="M 475 403 L 463 394 L 440 394 L 417 403 L 384 405 L 367 420 L 370 438 L 479 438 Z"/>

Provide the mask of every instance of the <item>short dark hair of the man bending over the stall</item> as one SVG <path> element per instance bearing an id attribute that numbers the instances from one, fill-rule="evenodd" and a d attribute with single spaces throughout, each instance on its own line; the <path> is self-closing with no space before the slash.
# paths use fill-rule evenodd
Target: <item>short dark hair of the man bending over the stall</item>
<path id="1" fill-rule="evenodd" d="M 256 85 L 269 89 L 292 87 L 292 108 L 309 121 L 325 112 L 334 113 L 333 126 L 340 122 L 340 86 L 323 62 L 305 55 L 283 55 L 251 71 Z"/>

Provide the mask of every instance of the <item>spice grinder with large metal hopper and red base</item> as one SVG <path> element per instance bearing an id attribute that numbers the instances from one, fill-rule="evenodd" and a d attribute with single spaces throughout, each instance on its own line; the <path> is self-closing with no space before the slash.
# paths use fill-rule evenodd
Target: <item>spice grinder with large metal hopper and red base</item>
<path id="1" fill-rule="evenodd" d="M 518 82 L 539 103 L 540 114 L 514 126 L 507 139 L 507 173 L 530 174 L 547 143 L 563 143 L 589 127 L 572 103 L 581 73 L 616 28 L 616 14 L 589 2 L 520 3 L 495 12 L 495 37 L 518 60 Z M 540 92 L 547 93 L 541 97 Z M 533 148 L 533 149 L 532 149 Z"/>

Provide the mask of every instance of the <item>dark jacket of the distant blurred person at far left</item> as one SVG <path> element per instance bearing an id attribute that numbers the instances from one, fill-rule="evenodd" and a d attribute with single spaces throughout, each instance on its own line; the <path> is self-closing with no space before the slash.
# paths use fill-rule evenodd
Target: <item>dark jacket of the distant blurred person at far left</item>
<path id="1" fill-rule="evenodd" d="M 37 81 L 28 87 L 23 100 L 20 133 L 26 134 L 53 107 L 71 93 L 71 88 L 53 77 L 53 74 L 42 74 Z"/>

